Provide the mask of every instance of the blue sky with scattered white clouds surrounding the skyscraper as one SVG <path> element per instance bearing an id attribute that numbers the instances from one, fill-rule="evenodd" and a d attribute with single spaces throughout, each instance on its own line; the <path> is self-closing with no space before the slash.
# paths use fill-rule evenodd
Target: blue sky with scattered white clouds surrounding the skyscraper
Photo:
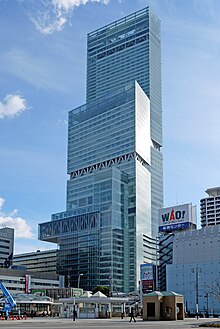
<path id="1" fill-rule="evenodd" d="M 55 247 L 38 223 L 65 210 L 86 34 L 147 5 L 162 23 L 164 205 L 199 208 L 220 185 L 219 0 L 0 0 L 0 225 L 16 228 L 16 253 Z"/>

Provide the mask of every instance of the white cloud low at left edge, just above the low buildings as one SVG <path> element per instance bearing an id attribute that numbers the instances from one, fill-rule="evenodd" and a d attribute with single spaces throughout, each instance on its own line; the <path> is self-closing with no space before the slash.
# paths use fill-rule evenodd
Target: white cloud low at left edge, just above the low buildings
<path id="1" fill-rule="evenodd" d="M 17 216 L 17 209 L 9 214 L 2 212 L 2 206 L 5 200 L 0 196 L 0 225 L 14 228 L 16 238 L 33 239 L 33 233 L 30 225 L 22 217 Z"/>

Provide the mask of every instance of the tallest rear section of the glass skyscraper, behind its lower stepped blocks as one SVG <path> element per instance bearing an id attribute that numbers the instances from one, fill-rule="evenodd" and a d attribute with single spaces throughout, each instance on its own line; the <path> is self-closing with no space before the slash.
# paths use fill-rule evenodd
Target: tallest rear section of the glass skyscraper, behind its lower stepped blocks
<path id="1" fill-rule="evenodd" d="M 149 7 L 87 38 L 87 102 L 135 80 L 150 98 L 151 218 L 156 237 L 158 209 L 163 206 L 161 44 L 160 21 Z"/>

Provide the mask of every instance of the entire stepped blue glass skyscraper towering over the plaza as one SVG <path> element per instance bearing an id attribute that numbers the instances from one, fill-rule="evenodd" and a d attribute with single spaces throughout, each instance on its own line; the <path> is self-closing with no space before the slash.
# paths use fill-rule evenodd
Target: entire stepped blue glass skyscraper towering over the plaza
<path id="1" fill-rule="evenodd" d="M 87 51 L 87 103 L 69 112 L 66 211 L 39 237 L 59 244 L 66 285 L 83 274 L 84 289 L 135 291 L 163 204 L 160 21 L 147 7 L 89 33 Z"/>

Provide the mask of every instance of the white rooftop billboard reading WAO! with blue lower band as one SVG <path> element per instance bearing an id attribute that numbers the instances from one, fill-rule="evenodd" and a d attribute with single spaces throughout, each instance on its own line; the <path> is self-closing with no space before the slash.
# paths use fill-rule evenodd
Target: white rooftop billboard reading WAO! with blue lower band
<path id="1" fill-rule="evenodd" d="M 159 232 L 187 229 L 196 224 L 196 208 L 191 203 L 159 210 Z"/>

